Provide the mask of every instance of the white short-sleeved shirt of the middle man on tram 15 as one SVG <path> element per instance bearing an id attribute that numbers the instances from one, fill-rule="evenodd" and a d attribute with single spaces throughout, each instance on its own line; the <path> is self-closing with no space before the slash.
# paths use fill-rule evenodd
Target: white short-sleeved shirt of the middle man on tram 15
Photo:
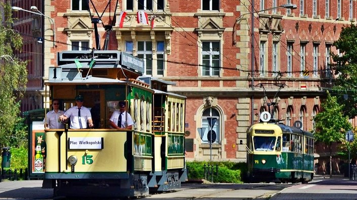
<path id="1" fill-rule="evenodd" d="M 78 107 L 73 106 L 72 108 L 68 109 L 65 114 L 66 117 L 70 118 L 71 124 L 70 128 L 72 129 L 79 129 L 79 120 L 78 120 Z M 82 123 L 82 128 L 87 128 L 87 121 L 88 119 L 92 119 L 91 111 L 86 107 L 82 106 L 80 108 L 80 121 Z"/>

